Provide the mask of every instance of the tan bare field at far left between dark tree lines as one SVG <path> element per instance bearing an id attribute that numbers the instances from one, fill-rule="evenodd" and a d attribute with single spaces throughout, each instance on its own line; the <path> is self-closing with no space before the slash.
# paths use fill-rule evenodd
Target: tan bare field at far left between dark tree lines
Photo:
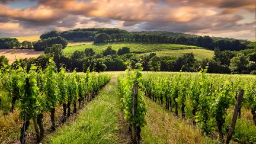
<path id="1" fill-rule="evenodd" d="M 38 57 L 41 53 L 43 52 L 33 49 L 0 49 L 0 56 L 6 56 L 9 59 L 9 63 L 14 62 L 16 59 Z"/>

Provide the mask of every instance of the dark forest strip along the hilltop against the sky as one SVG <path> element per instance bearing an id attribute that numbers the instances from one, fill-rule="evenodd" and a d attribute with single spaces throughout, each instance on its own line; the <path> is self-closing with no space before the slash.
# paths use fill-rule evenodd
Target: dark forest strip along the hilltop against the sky
<path id="1" fill-rule="evenodd" d="M 128 32 L 118 28 L 77 28 L 69 31 L 49 31 L 40 36 L 40 39 L 49 37 L 63 37 L 73 41 L 94 41 L 94 43 L 107 43 L 116 41 L 136 41 L 145 43 L 174 43 L 200 46 L 210 50 L 219 47 L 220 50 L 252 49 L 250 41 L 223 39 L 220 37 L 196 36 L 167 31 L 139 31 Z"/>

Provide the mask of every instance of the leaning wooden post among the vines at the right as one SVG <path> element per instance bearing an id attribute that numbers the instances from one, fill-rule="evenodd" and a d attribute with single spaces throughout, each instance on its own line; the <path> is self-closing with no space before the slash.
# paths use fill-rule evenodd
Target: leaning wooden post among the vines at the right
<path id="1" fill-rule="evenodd" d="M 236 100 L 235 110 L 234 110 L 234 113 L 233 113 L 233 118 L 232 118 L 232 121 L 231 121 L 231 126 L 229 126 L 228 137 L 227 137 L 226 143 L 229 143 L 231 138 L 232 138 L 233 131 L 235 129 L 236 119 L 238 117 L 238 113 L 239 113 L 239 110 L 240 110 L 240 107 L 241 107 L 241 101 L 242 101 L 242 96 L 243 95 L 244 95 L 244 89 L 239 91 L 238 98 Z"/>

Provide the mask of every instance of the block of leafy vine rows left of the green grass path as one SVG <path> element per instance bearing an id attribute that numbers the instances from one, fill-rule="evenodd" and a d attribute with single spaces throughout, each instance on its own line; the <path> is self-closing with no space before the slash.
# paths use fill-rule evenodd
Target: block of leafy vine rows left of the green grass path
<path id="1" fill-rule="evenodd" d="M 37 142 L 44 135 L 43 116 L 50 112 L 50 129 L 56 129 L 56 107 L 62 105 L 64 123 L 73 113 L 85 103 L 91 101 L 97 92 L 108 82 L 110 74 L 100 73 L 67 73 L 64 68 L 57 72 L 53 60 L 50 59 L 45 71 L 31 66 L 29 72 L 17 66 L 16 69 L 2 69 L 0 73 L 0 105 L 1 115 L 8 117 L 18 108 L 23 125 L 20 130 L 20 142 L 25 143 L 25 132 L 33 121 Z M 2 116 L 1 116 L 2 117 Z M 3 124 L 3 125 L 2 125 Z M 1 133 L 11 135 L 11 130 L 6 130 L 4 123 L 0 123 Z M 8 133 L 9 132 L 9 133 Z M 1 142 L 13 143 L 12 139 L 4 139 Z"/>

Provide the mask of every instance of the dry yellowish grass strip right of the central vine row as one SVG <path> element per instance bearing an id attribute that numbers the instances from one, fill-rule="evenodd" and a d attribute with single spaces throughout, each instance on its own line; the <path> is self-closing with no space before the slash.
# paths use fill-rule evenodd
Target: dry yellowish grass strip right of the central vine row
<path id="1" fill-rule="evenodd" d="M 201 135 L 189 121 L 172 116 L 161 105 L 146 99 L 148 115 L 141 136 L 144 143 L 217 143 Z"/>

